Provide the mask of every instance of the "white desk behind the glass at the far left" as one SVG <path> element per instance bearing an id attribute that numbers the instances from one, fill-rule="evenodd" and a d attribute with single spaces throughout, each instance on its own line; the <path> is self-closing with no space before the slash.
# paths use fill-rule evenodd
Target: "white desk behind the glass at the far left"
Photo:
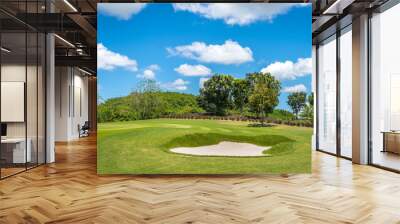
<path id="1" fill-rule="evenodd" d="M 13 145 L 13 163 L 25 163 L 31 162 L 32 160 L 32 153 L 31 153 L 31 145 L 32 140 L 28 138 L 26 140 L 28 143 L 28 147 L 26 147 L 26 154 L 25 154 L 25 138 L 5 138 L 1 139 L 2 145 Z"/>

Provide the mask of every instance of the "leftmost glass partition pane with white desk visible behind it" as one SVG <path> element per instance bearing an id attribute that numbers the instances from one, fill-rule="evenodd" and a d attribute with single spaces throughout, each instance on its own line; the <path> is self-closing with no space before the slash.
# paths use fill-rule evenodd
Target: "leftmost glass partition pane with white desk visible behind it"
<path id="1" fill-rule="evenodd" d="M 1 34 L 2 177 L 24 171 L 30 162 L 31 154 L 26 150 L 26 41 L 25 32 Z"/>

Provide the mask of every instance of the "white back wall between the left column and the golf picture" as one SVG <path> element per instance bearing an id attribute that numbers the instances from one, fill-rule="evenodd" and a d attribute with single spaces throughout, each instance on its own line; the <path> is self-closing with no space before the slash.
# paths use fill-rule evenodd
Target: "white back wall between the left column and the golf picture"
<path id="1" fill-rule="evenodd" d="M 78 125 L 88 120 L 88 78 L 76 68 L 56 67 L 55 85 L 55 140 L 77 139 Z"/>

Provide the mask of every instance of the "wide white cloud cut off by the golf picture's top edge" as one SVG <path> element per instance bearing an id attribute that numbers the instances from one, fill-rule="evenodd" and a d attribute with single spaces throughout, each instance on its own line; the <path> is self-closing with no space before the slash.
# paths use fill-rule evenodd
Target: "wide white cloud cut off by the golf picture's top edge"
<path id="1" fill-rule="evenodd" d="M 188 11 L 207 19 L 223 20 L 229 25 L 248 25 L 257 21 L 271 22 L 276 16 L 285 14 L 295 6 L 307 4 L 265 3 L 175 3 L 175 11 Z"/>

